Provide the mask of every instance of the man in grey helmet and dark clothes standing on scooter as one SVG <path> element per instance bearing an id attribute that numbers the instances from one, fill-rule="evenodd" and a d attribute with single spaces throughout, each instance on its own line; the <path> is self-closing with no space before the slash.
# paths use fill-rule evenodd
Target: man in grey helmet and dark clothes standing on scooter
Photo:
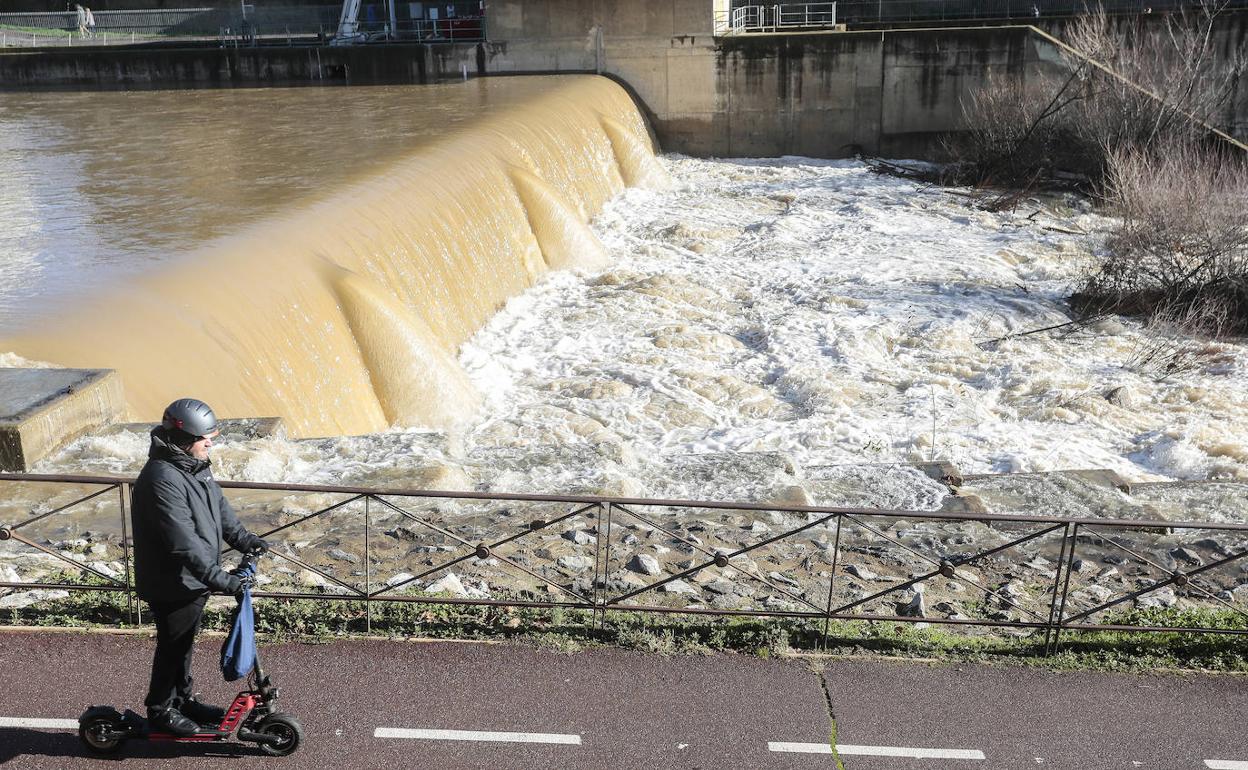
<path id="1" fill-rule="evenodd" d="M 225 710 L 191 689 L 191 655 L 208 594 L 237 595 L 240 575 L 221 569 L 222 542 L 242 553 L 268 549 L 247 532 L 212 478 L 208 448 L 218 434 L 208 404 L 175 401 L 151 432 L 147 464 L 131 497 L 135 589 L 156 620 L 156 654 L 145 705 L 154 729 L 195 735 Z"/>

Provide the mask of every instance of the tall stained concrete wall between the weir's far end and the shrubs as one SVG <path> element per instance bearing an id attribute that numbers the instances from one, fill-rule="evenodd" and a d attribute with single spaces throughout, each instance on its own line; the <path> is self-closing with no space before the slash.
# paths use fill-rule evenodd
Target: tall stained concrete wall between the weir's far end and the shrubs
<path id="1" fill-rule="evenodd" d="M 932 157 L 990 75 L 1055 66 L 1026 27 L 714 37 L 713 0 L 495 0 L 488 72 L 626 82 L 665 150 Z"/>

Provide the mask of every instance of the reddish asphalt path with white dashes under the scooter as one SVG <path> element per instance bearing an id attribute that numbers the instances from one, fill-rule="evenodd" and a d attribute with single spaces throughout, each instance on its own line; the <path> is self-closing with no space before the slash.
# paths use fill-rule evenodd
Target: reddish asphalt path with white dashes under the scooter
<path id="1" fill-rule="evenodd" d="M 151 645 L 0 631 L 0 764 L 116 761 L 87 756 L 72 729 L 21 720 L 136 706 Z M 218 645 L 197 649 L 197 689 L 223 704 L 236 688 L 216 671 Z M 303 721 L 295 755 L 131 741 L 122 756 L 145 768 L 834 768 L 835 718 L 849 770 L 1248 770 L 1243 676 L 411 641 L 266 645 L 261 655 L 283 709 Z"/>

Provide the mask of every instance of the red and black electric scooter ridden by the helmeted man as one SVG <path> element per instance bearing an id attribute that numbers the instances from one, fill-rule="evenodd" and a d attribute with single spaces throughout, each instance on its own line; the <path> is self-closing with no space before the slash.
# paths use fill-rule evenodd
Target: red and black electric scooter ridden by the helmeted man
<path id="1" fill-rule="evenodd" d="M 248 564 L 255 568 L 256 558 L 245 557 L 243 567 Z M 293 754 L 303 740 L 303 728 L 298 719 L 277 710 L 278 691 L 260 666 L 258 654 L 247 681 L 251 689 L 238 693 L 221 724 L 201 725 L 195 735 L 152 730 L 146 719 L 130 709 L 119 713 L 112 706 L 91 706 L 79 718 L 79 738 L 95 754 L 115 754 L 127 740 L 220 743 L 237 731 L 238 740 L 257 744 L 270 756 Z"/>

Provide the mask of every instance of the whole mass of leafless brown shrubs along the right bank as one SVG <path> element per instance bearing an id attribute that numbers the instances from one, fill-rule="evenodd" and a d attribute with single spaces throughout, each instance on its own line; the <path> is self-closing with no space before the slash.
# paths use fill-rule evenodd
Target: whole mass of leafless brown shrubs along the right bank
<path id="1" fill-rule="evenodd" d="M 1248 161 L 1212 130 L 1248 72 L 1248 40 L 1216 35 L 1223 9 L 1087 12 L 1066 30 L 1078 55 L 1065 76 L 990 80 L 963 105 L 976 127 L 951 147 L 948 181 L 1011 188 L 990 208 L 1086 175 L 1121 225 L 1072 303 L 1083 318 L 1144 317 L 1159 342 L 1138 364 L 1163 373 L 1184 366 L 1166 339 L 1248 333 Z"/>

